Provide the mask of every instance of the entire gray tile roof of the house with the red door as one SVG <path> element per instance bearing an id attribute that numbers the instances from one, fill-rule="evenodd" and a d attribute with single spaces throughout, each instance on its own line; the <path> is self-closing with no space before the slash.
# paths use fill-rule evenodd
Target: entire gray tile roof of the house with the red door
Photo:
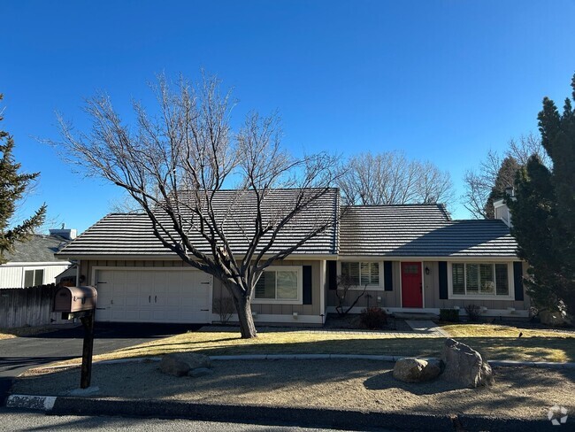
<path id="1" fill-rule="evenodd" d="M 297 191 L 274 191 L 266 201 L 265 218 L 286 212 Z M 333 189 L 313 208 L 291 222 L 271 252 L 302 238 L 321 218 L 335 218 L 338 191 Z M 235 253 L 247 247 L 255 216 L 253 197 L 219 191 L 215 211 Z M 185 210 L 184 214 L 188 214 Z M 167 222 L 167 220 L 165 220 Z M 169 224 L 167 224 L 169 225 Z M 166 225 L 166 226 L 167 226 Z M 338 235 L 339 233 L 339 235 Z M 192 229 L 192 243 L 210 253 L 208 244 Z M 305 243 L 295 253 L 373 257 L 516 257 L 517 243 L 501 220 L 451 220 L 441 204 L 352 206 L 336 228 Z M 61 257 L 174 256 L 152 234 L 145 214 L 112 213 L 58 253 Z"/>

